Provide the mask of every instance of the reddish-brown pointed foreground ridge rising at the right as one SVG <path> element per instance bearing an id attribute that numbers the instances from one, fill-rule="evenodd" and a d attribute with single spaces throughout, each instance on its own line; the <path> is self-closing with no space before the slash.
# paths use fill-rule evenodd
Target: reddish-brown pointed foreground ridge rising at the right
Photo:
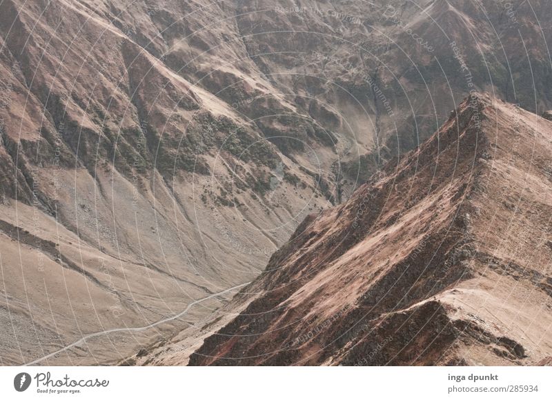
<path id="1" fill-rule="evenodd" d="M 190 365 L 511 365 L 552 349 L 552 123 L 473 94 L 312 214 Z"/>

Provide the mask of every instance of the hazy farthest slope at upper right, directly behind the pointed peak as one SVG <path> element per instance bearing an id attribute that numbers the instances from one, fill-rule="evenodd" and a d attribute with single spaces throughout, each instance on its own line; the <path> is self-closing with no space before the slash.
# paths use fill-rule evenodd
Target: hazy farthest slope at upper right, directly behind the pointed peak
<path id="1" fill-rule="evenodd" d="M 251 59 L 300 109 L 355 143 L 342 156 L 347 193 L 346 181 L 418 146 L 474 88 L 538 113 L 552 99 L 546 1 L 239 4 Z"/>

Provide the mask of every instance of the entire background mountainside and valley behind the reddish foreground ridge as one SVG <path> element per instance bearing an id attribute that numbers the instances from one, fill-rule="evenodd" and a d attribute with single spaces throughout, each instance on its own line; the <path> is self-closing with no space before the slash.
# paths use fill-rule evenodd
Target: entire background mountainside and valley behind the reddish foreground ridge
<path id="1" fill-rule="evenodd" d="M 190 354 L 472 90 L 552 110 L 552 11 L 507 4 L 1 1 L 0 363 Z"/>

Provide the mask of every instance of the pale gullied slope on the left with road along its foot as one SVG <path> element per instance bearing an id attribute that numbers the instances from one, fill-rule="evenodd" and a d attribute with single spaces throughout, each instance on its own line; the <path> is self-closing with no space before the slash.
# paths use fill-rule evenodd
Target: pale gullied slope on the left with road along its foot
<path id="1" fill-rule="evenodd" d="M 326 172 L 161 59 L 193 2 L 118 4 L 0 3 L 3 364 L 113 363 L 181 330 L 334 201 Z"/>

